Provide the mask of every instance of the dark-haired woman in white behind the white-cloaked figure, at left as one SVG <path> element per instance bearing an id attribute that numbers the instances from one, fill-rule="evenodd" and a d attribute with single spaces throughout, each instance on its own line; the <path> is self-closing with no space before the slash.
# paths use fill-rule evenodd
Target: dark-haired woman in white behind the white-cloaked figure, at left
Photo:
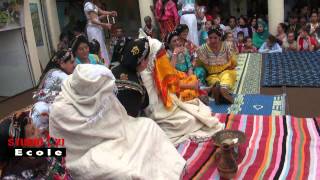
<path id="1" fill-rule="evenodd" d="M 36 128 L 46 136 L 49 131 L 49 108 L 54 98 L 61 91 L 62 82 L 74 70 L 75 63 L 71 50 L 59 50 L 50 60 L 40 78 L 33 98 L 36 103 L 31 110 L 31 117 Z"/>

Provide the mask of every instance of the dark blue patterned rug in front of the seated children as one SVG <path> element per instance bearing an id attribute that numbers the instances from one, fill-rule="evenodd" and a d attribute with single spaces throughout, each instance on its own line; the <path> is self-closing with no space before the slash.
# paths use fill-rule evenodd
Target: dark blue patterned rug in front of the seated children
<path id="1" fill-rule="evenodd" d="M 263 86 L 320 87 L 320 52 L 287 52 L 264 57 Z"/>

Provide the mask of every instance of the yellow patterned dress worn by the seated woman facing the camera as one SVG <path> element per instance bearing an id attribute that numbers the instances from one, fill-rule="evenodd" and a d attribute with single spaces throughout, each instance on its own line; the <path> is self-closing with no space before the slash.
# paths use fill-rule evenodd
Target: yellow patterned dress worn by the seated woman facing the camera
<path id="1" fill-rule="evenodd" d="M 236 56 L 225 43 L 222 44 L 218 53 L 212 52 L 209 46 L 204 44 L 197 50 L 197 57 L 198 72 L 196 74 L 206 71 L 205 80 L 209 86 L 219 82 L 221 86 L 230 90 L 234 88 L 237 73 L 235 69 L 230 68 L 236 66 Z"/>

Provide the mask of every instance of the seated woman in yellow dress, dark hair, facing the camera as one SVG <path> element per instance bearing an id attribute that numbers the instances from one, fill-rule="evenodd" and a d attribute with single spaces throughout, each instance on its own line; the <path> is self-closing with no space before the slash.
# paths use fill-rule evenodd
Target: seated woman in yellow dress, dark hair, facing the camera
<path id="1" fill-rule="evenodd" d="M 216 103 L 232 104 L 233 97 L 230 92 L 237 78 L 236 54 L 221 41 L 221 38 L 222 30 L 210 29 L 208 31 L 208 42 L 196 52 L 195 74 L 206 73 L 205 81 L 213 87 L 212 95 Z"/>

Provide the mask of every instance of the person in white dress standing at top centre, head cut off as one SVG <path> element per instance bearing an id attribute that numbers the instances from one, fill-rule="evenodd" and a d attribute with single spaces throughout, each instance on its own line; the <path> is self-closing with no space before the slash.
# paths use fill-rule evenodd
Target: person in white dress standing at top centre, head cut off
<path id="1" fill-rule="evenodd" d="M 188 40 L 190 40 L 196 46 L 199 46 L 197 17 L 195 15 L 195 3 L 195 0 L 178 0 L 178 4 L 182 5 L 180 24 L 186 24 L 188 26 Z"/>

